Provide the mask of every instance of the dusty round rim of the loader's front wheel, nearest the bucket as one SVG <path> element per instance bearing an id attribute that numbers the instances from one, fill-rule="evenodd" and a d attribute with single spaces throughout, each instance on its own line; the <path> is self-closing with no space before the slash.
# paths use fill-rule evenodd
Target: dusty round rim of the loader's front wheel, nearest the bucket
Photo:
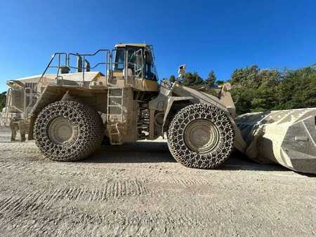
<path id="1" fill-rule="evenodd" d="M 219 132 L 216 126 L 206 119 L 192 121 L 185 128 L 185 143 L 192 151 L 208 153 L 219 141 Z"/>

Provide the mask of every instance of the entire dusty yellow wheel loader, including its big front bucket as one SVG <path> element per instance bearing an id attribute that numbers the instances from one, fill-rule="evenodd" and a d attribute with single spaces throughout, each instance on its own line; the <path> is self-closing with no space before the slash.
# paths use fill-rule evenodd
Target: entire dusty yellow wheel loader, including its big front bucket
<path id="1" fill-rule="evenodd" d="M 184 73 L 182 65 L 178 77 Z M 187 167 L 217 168 L 235 147 L 259 163 L 316 172 L 315 108 L 235 119 L 230 83 L 218 96 L 178 81 L 159 83 L 154 50 L 147 44 L 54 53 L 43 74 L 7 84 L 5 123 L 18 116 L 11 123 L 54 161 L 86 158 L 101 142 L 121 145 L 162 136 L 176 161 Z"/>

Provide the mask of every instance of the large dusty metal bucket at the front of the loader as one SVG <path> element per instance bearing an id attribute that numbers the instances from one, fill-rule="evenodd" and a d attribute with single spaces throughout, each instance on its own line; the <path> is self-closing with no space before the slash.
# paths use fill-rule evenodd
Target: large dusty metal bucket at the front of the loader
<path id="1" fill-rule="evenodd" d="M 316 174 L 316 108 L 243 114 L 236 123 L 252 160 Z"/>

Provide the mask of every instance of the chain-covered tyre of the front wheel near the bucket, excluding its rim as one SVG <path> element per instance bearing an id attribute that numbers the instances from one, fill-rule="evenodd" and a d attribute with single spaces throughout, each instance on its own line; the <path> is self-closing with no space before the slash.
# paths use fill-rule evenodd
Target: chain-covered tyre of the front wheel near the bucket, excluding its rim
<path id="1" fill-rule="evenodd" d="M 196 119 L 205 119 L 218 130 L 219 139 L 207 153 L 193 151 L 185 142 L 185 128 Z M 169 126 L 168 145 L 173 158 L 190 168 L 213 169 L 221 165 L 234 148 L 234 129 L 224 111 L 211 104 L 191 104 L 173 117 Z"/>

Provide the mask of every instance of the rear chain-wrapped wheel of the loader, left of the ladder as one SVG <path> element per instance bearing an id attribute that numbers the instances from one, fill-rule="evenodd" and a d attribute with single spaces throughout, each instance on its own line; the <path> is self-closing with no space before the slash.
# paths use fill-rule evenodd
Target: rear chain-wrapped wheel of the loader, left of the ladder
<path id="1" fill-rule="evenodd" d="M 53 161 L 79 161 L 100 146 L 103 121 L 91 107 L 75 101 L 48 104 L 37 116 L 34 140 Z"/>

